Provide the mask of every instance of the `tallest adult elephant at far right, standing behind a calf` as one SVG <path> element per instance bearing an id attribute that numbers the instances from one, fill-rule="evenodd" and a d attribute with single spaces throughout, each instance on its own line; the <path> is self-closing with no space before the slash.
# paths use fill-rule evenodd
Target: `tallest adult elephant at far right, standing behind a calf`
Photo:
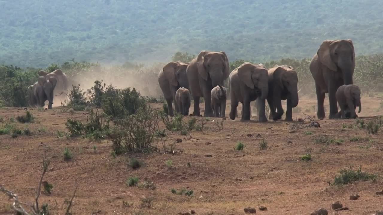
<path id="1" fill-rule="evenodd" d="M 310 62 L 310 72 L 315 81 L 318 99 L 318 119 L 324 119 L 323 102 L 325 93 L 329 94 L 329 119 L 340 118 L 336 100 L 339 86 L 353 84 L 355 50 L 351 39 L 325 40 Z"/>

